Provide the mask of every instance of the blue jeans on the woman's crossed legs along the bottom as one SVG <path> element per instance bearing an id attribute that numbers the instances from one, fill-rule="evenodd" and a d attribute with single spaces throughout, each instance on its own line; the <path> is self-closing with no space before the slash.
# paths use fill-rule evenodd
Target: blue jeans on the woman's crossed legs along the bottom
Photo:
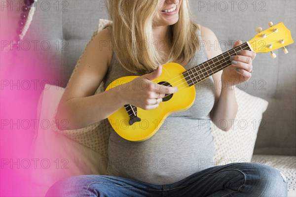
<path id="1" fill-rule="evenodd" d="M 106 175 L 56 182 L 46 197 L 287 197 L 287 182 L 273 167 L 233 163 L 196 172 L 169 185 Z"/>

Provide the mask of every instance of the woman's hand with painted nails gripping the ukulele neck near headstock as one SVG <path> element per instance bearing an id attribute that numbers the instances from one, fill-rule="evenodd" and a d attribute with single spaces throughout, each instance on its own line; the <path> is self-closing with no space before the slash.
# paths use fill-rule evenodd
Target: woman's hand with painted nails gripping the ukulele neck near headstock
<path id="1" fill-rule="evenodd" d="M 242 44 L 242 41 L 236 41 L 233 48 L 240 44 Z M 252 76 L 252 61 L 255 57 L 256 53 L 248 50 L 241 50 L 239 55 L 231 56 L 231 66 L 223 69 L 222 72 L 222 84 L 224 84 L 226 88 L 233 88 L 239 83 L 248 81 Z"/>

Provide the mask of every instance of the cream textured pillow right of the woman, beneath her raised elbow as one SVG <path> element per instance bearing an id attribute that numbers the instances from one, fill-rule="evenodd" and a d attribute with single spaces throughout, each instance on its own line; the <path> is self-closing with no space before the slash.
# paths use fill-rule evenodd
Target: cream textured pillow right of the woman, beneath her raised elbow
<path id="1" fill-rule="evenodd" d="M 238 88 L 235 88 L 235 97 L 238 111 L 233 127 L 229 131 L 222 131 L 211 124 L 216 165 L 251 162 L 262 114 L 268 106 L 266 100 L 249 95 Z M 264 124 L 261 127 L 263 129 Z"/>

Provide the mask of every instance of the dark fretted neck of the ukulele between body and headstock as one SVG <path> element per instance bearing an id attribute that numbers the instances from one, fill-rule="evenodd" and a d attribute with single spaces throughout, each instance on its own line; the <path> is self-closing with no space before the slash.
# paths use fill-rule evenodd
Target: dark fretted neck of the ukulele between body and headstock
<path id="1" fill-rule="evenodd" d="M 230 56 L 237 55 L 237 52 L 241 50 L 251 51 L 252 48 L 248 42 L 245 42 L 237 47 L 234 47 L 233 49 L 230 49 L 229 51 L 222 53 L 219 56 L 216 56 L 215 58 L 186 70 L 183 72 L 183 76 L 185 77 L 185 80 L 189 86 L 195 85 L 212 76 L 216 72 L 219 72 L 220 70 L 230 66 Z"/>

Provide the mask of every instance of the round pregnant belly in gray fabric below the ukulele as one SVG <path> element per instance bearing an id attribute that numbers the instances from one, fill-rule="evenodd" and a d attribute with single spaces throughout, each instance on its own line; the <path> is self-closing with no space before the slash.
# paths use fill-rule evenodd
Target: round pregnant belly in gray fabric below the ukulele
<path id="1" fill-rule="evenodd" d="M 196 119 L 167 118 L 151 138 L 131 142 L 111 130 L 107 174 L 167 185 L 213 166 L 214 139 Z"/>

